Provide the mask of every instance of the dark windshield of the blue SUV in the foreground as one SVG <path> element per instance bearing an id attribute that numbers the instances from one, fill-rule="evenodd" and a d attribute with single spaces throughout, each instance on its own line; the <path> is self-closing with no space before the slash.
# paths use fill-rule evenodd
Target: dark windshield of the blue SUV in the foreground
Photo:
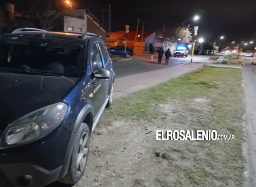
<path id="1" fill-rule="evenodd" d="M 0 37 L 0 72 L 79 77 L 81 42 L 46 37 Z"/>

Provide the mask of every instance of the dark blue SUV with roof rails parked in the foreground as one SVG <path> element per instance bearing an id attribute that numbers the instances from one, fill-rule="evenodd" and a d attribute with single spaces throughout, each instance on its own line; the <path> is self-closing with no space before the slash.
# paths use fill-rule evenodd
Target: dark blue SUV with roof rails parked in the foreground
<path id="1" fill-rule="evenodd" d="M 114 78 L 95 34 L 20 28 L 0 37 L 0 186 L 77 183 Z"/>

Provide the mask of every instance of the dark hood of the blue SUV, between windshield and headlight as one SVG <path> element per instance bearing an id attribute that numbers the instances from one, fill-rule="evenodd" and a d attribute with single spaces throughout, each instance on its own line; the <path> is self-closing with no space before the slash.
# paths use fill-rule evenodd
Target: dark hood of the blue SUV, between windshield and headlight
<path id="1" fill-rule="evenodd" d="M 0 73 L 0 130 L 36 109 L 59 102 L 78 78 Z"/>

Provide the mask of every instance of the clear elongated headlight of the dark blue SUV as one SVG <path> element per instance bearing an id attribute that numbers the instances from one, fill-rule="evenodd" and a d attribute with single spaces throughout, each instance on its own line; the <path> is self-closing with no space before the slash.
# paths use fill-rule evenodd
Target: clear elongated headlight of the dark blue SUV
<path id="1" fill-rule="evenodd" d="M 0 149 L 43 138 L 62 122 L 67 109 L 66 104 L 59 102 L 33 111 L 10 123 L 0 139 Z"/>

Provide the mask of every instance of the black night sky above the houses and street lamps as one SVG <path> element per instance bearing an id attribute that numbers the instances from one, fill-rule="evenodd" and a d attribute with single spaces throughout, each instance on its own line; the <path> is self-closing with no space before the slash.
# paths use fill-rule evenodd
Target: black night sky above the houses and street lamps
<path id="1" fill-rule="evenodd" d="M 23 2 L 26 8 L 28 0 L 9 0 Z M 65 2 L 65 0 L 55 0 Z M 28 3 L 25 3 L 28 2 Z M 180 26 L 183 21 L 192 19 L 195 14 L 201 19 L 187 21 L 185 25 L 199 26 L 198 37 L 212 42 L 221 35 L 223 44 L 231 47 L 231 42 L 254 41 L 256 45 L 256 0 L 70 0 L 75 8 L 89 9 L 100 21 L 102 10 L 105 26 L 108 28 L 108 4 L 111 4 L 111 31 L 124 30 L 130 25 L 136 30 L 140 18 L 144 30 L 156 31 L 158 35 L 166 27 Z M 22 6 L 18 5 L 17 8 Z"/>

